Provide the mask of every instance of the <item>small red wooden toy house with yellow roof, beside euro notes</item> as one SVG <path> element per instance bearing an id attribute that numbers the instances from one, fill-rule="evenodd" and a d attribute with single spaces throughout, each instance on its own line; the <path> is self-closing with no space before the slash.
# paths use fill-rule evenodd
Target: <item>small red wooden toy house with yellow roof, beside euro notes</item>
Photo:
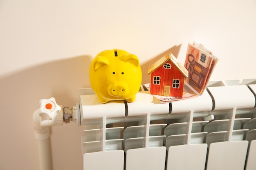
<path id="1" fill-rule="evenodd" d="M 151 74 L 151 94 L 182 97 L 184 78 L 188 77 L 188 71 L 172 53 L 167 53 L 151 65 L 148 74 Z"/>

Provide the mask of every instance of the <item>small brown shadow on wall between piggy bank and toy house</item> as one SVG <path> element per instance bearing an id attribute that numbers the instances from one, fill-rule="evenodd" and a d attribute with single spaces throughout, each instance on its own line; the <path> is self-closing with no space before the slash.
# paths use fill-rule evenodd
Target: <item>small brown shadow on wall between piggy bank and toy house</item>
<path id="1" fill-rule="evenodd" d="M 170 49 L 160 53 L 159 55 L 157 55 L 156 57 L 154 57 L 153 59 L 151 59 L 150 61 L 144 63 L 144 64 L 141 64 L 141 71 L 142 71 L 142 83 L 141 84 L 146 84 L 146 83 L 150 83 L 150 76 L 148 74 L 148 68 L 154 64 L 155 62 L 157 62 L 157 60 L 159 60 L 161 57 L 163 57 L 164 55 L 166 55 L 167 53 L 173 53 L 173 55 L 175 57 L 178 56 L 179 52 L 180 52 L 180 47 L 181 47 L 181 44 L 178 45 L 178 46 L 173 46 L 171 47 Z"/>

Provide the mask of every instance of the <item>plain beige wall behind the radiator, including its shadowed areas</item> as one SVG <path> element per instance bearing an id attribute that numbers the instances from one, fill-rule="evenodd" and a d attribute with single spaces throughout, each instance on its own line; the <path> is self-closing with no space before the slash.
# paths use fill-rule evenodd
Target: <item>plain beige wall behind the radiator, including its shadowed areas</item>
<path id="1" fill-rule="evenodd" d="M 196 41 L 220 59 L 211 80 L 256 78 L 255 30 L 255 0 L 1 0 L 0 169 L 39 168 L 32 113 L 41 98 L 75 106 L 100 51 L 136 54 L 147 83 L 158 57 L 171 51 L 184 63 Z M 52 128 L 55 170 L 82 169 L 81 131 Z"/>

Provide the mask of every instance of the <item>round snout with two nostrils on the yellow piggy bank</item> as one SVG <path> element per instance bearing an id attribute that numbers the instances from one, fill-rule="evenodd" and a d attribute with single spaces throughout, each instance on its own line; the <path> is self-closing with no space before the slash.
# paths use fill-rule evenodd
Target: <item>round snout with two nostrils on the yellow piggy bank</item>
<path id="1" fill-rule="evenodd" d="M 110 84 L 108 86 L 108 93 L 113 97 L 121 97 L 128 92 L 128 86 L 126 84 Z"/>

